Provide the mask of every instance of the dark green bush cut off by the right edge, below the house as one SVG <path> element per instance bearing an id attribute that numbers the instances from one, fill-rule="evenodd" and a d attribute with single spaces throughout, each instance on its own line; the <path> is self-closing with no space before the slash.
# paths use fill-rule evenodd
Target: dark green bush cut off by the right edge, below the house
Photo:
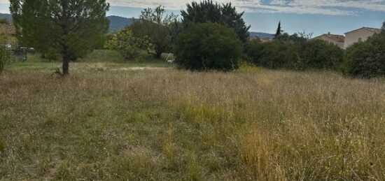
<path id="1" fill-rule="evenodd" d="M 344 72 L 371 78 L 385 75 L 385 34 L 376 34 L 346 50 Z"/>

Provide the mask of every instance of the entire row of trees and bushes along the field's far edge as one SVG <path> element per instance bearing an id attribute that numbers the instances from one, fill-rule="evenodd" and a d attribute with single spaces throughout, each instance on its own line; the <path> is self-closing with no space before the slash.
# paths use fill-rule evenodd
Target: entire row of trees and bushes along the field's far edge
<path id="1" fill-rule="evenodd" d="M 118 50 L 127 60 L 146 51 L 156 59 L 172 52 L 179 68 L 231 71 L 239 61 L 267 68 L 330 69 L 372 77 L 385 75 L 385 33 L 347 50 L 307 34 L 289 35 L 281 29 L 274 41 L 250 41 L 242 16 L 231 3 L 211 0 L 188 3 L 181 18 L 165 13 L 163 6 L 146 8 L 125 29 L 107 34 L 105 0 L 10 0 L 20 43 L 42 55 L 62 55 L 62 73 L 69 61 L 97 48 Z M 385 29 L 385 26 L 383 27 Z"/>

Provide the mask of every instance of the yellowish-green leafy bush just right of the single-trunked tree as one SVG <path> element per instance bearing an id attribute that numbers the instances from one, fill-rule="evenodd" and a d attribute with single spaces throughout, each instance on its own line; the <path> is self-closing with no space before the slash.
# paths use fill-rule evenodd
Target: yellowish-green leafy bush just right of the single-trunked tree
<path id="1" fill-rule="evenodd" d="M 126 60 L 135 59 L 142 49 L 151 47 L 148 38 L 137 38 L 130 28 L 118 31 L 105 45 L 105 48 L 118 50 Z"/>

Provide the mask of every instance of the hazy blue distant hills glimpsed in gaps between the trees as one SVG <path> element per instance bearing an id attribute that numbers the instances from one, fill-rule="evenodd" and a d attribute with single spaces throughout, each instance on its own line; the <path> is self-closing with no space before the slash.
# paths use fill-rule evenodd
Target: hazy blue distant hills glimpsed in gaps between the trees
<path id="1" fill-rule="evenodd" d="M 12 22 L 12 16 L 10 14 L 0 13 L 0 17 L 6 17 L 9 22 Z M 110 20 L 110 31 L 117 31 L 123 29 L 126 26 L 130 26 L 133 20 L 132 18 L 120 17 L 111 15 L 107 17 Z M 271 38 L 274 34 L 260 33 L 260 32 L 250 32 L 250 36 L 258 36 L 258 38 Z"/>

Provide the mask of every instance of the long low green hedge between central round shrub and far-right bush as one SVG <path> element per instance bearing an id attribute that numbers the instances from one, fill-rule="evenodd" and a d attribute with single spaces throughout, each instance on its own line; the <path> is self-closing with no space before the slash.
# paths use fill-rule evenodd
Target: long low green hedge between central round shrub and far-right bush
<path id="1" fill-rule="evenodd" d="M 284 33 L 272 42 L 252 41 L 246 52 L 253 63 L 267 68 L 339 68 L 344 56 L 343 51 L 337 45 L 325 41 L 309 41 L 309 37 L 311 34 Z"/>

